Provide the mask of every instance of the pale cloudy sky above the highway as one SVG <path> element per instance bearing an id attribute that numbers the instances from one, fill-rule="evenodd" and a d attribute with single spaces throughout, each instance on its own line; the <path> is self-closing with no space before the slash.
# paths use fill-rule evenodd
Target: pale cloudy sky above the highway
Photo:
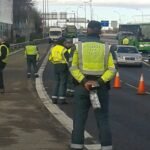
<path id="1" fill-rule="evenodd" d="M 75 12 L 79 17 L 91 18 L 90 0 L 49 0 L 49 12 Z M 42 11 L 43 0 L 34 0 Z M 150 22 L 150 0 L 92 0 L 94 20 L 116 20 L 118 23 Z"/>

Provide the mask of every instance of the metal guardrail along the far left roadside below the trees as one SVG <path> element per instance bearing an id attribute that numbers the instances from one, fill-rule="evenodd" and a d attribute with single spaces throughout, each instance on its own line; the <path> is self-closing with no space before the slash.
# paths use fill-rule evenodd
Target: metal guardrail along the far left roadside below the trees
<path id="1" fill-rule="evenodd" d="M 37 44 L 48 42 L 48 38 L 35 39 L 33 41 L 27 41 L 27 42 L 17 43 L 17 44 L 10 44 L 10 51 L 14 52 L 18 49 L 24 48 L 26 45 L 30 44 L 31 42 L 34 42 L 37 45 Z"/>

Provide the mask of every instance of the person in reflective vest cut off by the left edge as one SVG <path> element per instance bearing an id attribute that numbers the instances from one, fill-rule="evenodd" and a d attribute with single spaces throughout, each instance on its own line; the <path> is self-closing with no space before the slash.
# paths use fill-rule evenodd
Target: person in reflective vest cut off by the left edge
<path id="1" fill-rule="evenodd" d="M 0 93 L 5 92 L 3 81 L 3 70 L 7 64 L 7 58 L 9 55 L 9 44 L 6 38 L 0 38 Z"/>

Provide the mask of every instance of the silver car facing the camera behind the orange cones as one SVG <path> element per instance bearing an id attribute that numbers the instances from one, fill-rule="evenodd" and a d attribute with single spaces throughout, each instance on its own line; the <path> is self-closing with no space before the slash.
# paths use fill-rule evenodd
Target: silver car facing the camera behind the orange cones
<path id="1" fill-rule="evenodd" d="M 117 45 L 116 59 L 118 65 L 142 67 L 142 55 L 135 46 Z"/>

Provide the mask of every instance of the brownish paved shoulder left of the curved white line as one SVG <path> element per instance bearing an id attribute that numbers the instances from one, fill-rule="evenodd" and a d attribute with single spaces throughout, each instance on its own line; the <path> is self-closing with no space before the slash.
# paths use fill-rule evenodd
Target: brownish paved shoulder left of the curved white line
<path id="1" fill-rule="evenodd" d="M 39 45 L 40 63 L 47 44 Z M 47 111 L 26 77 L 24 51 L 9 57 L 0 94 L 0 150 L 67 150 L 70 134 Z"/>

